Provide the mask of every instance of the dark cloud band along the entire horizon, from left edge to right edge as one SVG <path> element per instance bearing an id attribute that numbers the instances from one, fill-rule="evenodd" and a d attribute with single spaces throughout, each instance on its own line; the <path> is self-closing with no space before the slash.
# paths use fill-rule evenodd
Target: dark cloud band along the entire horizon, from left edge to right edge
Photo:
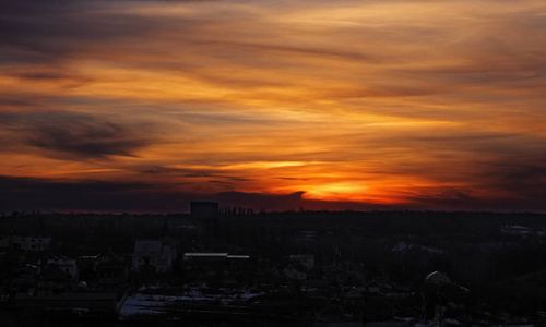
<path id="1" fill-rule="evenodd" d="M 222 192 L 188 194 L 168 186 L 142 182 L 79 181 L 64 182 L 36 178 L 0 175 L 0 210 L 91 210 L 188 213 L 191 201 L 214 201 L 221 206 L 244 206 L 268 211 L 312 210 L 497 210 L 546 211 L 544 202 L 506 197 L 484 199 L 460 187 L 415 190 L 406 194 L 407 204 L 382 205 L 356 202 L 306 199 L 305 192 L 264 194 Z M 543 191 L 543 195 L 544 191 Z M 543 197 L 544 198 L 544 197 Z"/>

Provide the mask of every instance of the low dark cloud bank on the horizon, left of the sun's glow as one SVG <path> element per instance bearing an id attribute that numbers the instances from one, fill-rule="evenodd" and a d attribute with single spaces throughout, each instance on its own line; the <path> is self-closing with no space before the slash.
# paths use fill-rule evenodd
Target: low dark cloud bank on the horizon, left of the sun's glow
<path id="1" fill-rule="evenodd" d="M 0 210 L 188 211 L 191 201 L 268 210 L 299 208 L 304 192 L 286 195 L 224 192 L 195 195 L 140 182 L 62 182 L 0 175 Z"/>

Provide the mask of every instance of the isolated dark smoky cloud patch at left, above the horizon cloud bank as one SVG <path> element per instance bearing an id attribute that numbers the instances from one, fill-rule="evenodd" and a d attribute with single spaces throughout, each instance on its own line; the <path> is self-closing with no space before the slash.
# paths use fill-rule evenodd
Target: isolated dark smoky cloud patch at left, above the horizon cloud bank
<path id="1" fill-rule="evenodd" d="M 21 145 L 32 146 L 52 158 L 133 156 L 134 150 L 151 143 L 141 134 L 146 131 L 142 126 L 124 125 L 83 113 L 2 113 L 0 118 L 14 141 L 9 145 L 12 149 Z"/>

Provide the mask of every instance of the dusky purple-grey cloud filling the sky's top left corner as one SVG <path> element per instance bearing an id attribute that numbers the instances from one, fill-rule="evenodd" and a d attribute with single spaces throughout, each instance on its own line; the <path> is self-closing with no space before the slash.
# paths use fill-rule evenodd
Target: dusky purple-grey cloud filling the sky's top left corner
<path id="1" fill-rule="evenodd" d="M 192 35 L 188 32 L 203 24 L 204 17 L 154 17 L 138 9 L 180 2 L 199 1 L 2 0 L 0 62 L 4 65 L 51 65 L 81 58 L 97 60 L 105 58 L 105 48 L 109 49 L 108 55 L 117 50 L 124 52 L 123 62 L 128 62 L 135 55 L 131 52 L 134 49 L 127 49 L 129 44 L 141 52 L 157 53 L 157 49 L 146 47 L 149 44 L 142 39 L 146 36 L 156 39 L 155 32 L 175 27 L 180 35 Z"/>

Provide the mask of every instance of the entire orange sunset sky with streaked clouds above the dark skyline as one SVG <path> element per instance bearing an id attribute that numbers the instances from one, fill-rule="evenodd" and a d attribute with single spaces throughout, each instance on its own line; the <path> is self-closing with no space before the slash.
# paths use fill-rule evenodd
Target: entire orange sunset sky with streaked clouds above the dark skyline
<path id="1" fill-rule="evenodd" d="M 0 210 L 546 211 L 544 0 L 0 1 Z"/>

